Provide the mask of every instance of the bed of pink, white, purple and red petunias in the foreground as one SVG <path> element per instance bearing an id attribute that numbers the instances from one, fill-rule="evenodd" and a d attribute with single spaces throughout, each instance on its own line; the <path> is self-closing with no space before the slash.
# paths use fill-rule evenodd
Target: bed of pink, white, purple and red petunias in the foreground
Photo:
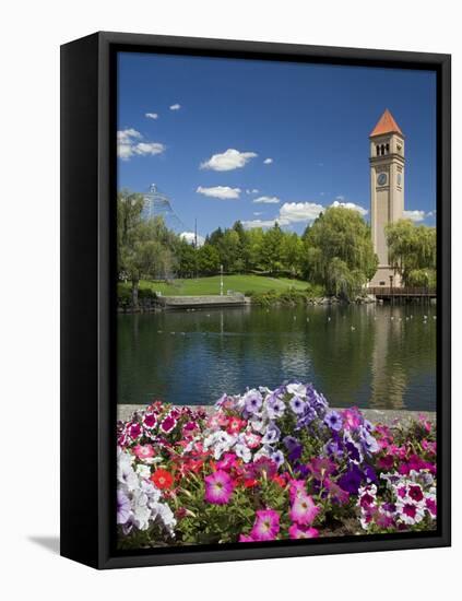
<path id="1" fill-rule="evenodd" d="M 372 425 L 312 386 L 155 401 L 119 422 L 120 549 L 436 528 L 436 435 Z"/>

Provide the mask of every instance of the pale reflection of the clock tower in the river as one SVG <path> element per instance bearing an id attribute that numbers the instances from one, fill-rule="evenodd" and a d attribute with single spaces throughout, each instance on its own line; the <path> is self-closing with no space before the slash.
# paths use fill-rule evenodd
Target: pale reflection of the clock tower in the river
<path id="1" fill-rule="evenodd" d="M 394 352 L 402 334 L 402 310 L 389 307 L 375 320 L 371 355 L 370 408 L 403 409 L 406 375 Z"/>

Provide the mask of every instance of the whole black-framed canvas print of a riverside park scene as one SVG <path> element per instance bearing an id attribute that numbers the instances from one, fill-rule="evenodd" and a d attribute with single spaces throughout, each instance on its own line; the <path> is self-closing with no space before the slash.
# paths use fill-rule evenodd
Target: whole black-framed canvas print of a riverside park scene
<path id="1" fill-rule="evenodd" d="M 61 49 L 61 553 L 450 544 L 450 57 Z"/>

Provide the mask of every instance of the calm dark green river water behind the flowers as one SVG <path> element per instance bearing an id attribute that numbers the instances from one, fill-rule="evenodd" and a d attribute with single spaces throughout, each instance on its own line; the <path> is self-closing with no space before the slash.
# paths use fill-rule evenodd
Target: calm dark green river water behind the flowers
<path id="1" fill-rule="evenodd" d="M 436 306 L 229 308 L 118 316 L 118 402 L 212 404 L 311 381 L 332 406 L 436 409 Z"/>

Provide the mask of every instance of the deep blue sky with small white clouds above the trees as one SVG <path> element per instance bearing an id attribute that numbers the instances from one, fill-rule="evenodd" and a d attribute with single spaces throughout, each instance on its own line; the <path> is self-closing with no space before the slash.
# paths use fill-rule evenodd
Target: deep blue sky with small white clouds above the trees
<path id="1" fill-rule="evenodd" d="M 241 220 L 301 232 L 333 202 L 368 219 L 368 135 L 406 137 L 405 209 L 435 224 L 436 76 L 202 57 L 119 55 L 118 186 L 156 184 L 186 229 Z"/>

